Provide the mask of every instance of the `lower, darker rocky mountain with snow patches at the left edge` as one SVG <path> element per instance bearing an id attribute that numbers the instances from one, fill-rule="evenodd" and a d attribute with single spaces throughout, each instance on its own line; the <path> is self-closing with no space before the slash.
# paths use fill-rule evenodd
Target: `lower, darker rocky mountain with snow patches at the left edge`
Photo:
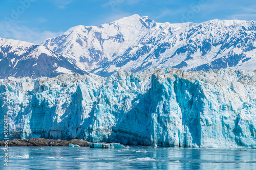
<path id="1" fill-rule="evenodd" d="M 0 78 L 87 73 L 44 46 L 4 38 L 0 38 L 0 67 Z"/>

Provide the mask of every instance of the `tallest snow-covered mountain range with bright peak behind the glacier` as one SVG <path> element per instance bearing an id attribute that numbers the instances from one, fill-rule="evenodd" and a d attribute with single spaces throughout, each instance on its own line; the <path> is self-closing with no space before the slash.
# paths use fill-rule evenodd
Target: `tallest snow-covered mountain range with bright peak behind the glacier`
<path id="1" fill-rule="evenodd" d="M 77 26 L 41 45 L 79 68 L 109 76 L 119 68 L 184 70 L 256 69 L 256 22 L 211 20 L 157 23 L 133 15 L 95 26 Z"/>

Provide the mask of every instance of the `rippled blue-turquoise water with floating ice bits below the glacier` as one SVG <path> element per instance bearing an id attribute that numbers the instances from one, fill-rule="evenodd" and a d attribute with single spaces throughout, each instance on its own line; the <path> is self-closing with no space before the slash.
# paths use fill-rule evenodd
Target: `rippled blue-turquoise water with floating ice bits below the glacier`
<path id="1" fill-rule="evenodd" d="M 0 169 L 256 169 L 255 149 L 9 147 L 8 154 Z"/>

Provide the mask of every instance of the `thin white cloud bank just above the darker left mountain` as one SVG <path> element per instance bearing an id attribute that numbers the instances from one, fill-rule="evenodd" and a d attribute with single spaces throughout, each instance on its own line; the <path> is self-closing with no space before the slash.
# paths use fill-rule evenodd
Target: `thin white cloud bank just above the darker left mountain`
<path id="1" fill-rule="evenodd" d="M 0 22 L 0 37 L 15 39 L 20 41 L 32 42 L 40 44 L 42 41 L 60 35 L 62 32 L 39 31 L 38 29 L 30 29 L 26 26 L 18 26 L 15 23 L 7 25 L 4 21 Z"/>

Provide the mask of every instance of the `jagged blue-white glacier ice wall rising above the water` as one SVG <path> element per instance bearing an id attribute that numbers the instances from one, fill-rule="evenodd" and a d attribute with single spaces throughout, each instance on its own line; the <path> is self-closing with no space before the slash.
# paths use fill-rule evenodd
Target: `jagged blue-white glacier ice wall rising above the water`
<path id="1" fill-rule="evenodd" d="M 13 138 L 256 148 L 256 72 L 150 69 L 0 80 Z M 2 136 L 1 136 L 2 137 Z"/>

